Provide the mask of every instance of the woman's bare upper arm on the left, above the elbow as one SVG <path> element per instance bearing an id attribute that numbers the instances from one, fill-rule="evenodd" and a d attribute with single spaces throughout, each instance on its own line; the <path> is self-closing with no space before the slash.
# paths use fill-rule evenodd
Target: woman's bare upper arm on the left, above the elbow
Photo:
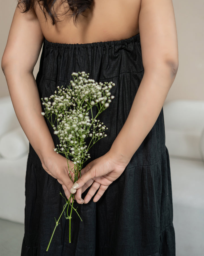
<path id="1" fill-rule="evenodd" d="M 22 13 L 16 7 L 11 23 L 7 45 L 2 57 L 2 69 L 33 72 L 40 54 L 44 36 L 34 9 Z"/>

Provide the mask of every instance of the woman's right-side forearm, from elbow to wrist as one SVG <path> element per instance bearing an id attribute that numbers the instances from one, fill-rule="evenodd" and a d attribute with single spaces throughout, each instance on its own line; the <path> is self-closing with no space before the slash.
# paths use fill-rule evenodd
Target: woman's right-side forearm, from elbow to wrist
<path id="1" fill-rule="evenodd" d="M 144 73 L 128 118 L 109 150 L 117 160 L 128 164 L 148 135 L 162 110 L 175 74 L 168 65 Z"/>

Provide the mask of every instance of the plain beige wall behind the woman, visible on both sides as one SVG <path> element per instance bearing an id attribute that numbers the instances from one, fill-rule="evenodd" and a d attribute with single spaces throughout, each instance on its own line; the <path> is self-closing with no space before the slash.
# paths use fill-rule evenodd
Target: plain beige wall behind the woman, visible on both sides
<path id="1" fill-rule="evenodd" d="M 16 0 L 1 1 L 1 45 L 0 57 L 6 45 L 7 36 L 16 7 Z M 166 102 L 175 99 L 204 100 L 204 1 L 173 0 L 178 43 L 179 70 Z M 37 75 L 39 61 L 35 67 Z M 3 72 L 0 70 L 0 97 L 8 95 Z"/>

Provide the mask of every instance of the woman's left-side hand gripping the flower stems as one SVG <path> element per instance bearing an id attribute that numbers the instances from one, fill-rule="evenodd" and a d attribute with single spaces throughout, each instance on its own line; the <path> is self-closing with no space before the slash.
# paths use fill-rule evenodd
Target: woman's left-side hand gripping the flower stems
<path id="1" fill-rule="evenodd" d="M 67 199 L 69 199 L 71 193 L 75 193 L 76 189 L 72 188 L 74 180 L 74 163 L 69 161 L 69 167 L 67 165 L 67 159 L 56 152 L 49 154 L 42 162 L 43 169 L 52 177 L 58 180 L 64 189 Z M 72 199 L 71 199 L 72 202 Z"/>

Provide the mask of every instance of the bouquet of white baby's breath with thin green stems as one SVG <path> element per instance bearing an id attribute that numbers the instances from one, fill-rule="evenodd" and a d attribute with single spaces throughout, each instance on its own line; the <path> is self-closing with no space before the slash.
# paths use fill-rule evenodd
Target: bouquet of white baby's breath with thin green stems
<path id="1" fill-rule="evenodd" d="M 76 182 L 80 176 L 83 163 L 90 158 L 89 149 L 99 139 L 107 136 L 105 130 L 108 128 L 97 117 L 109 107 L 111 99 L 114 98 L 111 95 L 110 89 L 115 84 L 113 82 L 104 82 L 104 84 L 102 82 L 95 82 L 95 80 L 89 79 L 89 73 L 86 74 L 84 71 L 72 73 L 72 77 L 73 80 L 70 81 L 69 88 L 59 88 L 58 86 L 58 91 L 55 91 L 54 95 L 41 100 L 42 105 L 44 105 L 42 115 L 49 120 L 54 129 L 54 134 L 59 137 L 59 144 L 56 145 L 54 151 L 65 155 L 68 169 L 69 161 L 73 161 L 74 170 L 72 172 L 74 172 L 74 182 Z M 97 108 L 95 116 L 93 116 L 92 112 L 94 106 Z M 91 113 L 91 118 L 89 113 Z M 88 137 L 90 137 L 90 143 L 86 145 L 85 140 Z M 70 178 L 72 178 L 70 169 L 69 174 Z M 70 243 L 72 210 L 77 213 L 73 207 L 73 197 L 73 194 L 71 194 L 68 200 L 64 197 L 66 203 L 58 220 L 55 219 L 56 225 L 52 233 L 53 237 L 55 229 L 59 224 L 59 219 L 64 212 L 65 218 L 69 219 Z M 71 207 L 70 210 L 69 207 Z"/>

